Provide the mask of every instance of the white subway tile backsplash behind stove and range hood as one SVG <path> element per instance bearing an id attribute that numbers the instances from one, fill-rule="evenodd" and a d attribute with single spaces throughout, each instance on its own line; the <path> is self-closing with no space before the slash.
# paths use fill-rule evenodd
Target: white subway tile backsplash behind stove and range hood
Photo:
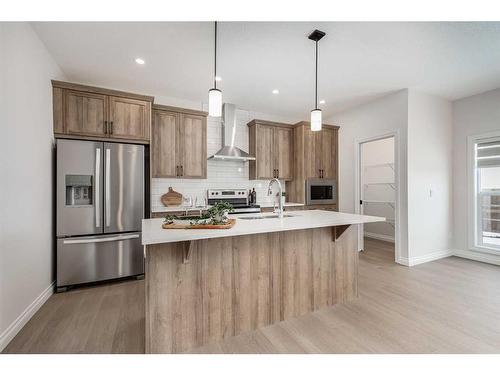
<path id="1" fill-rule="evenodd" d="M 267 119 L 270 121 L 284 121 L 273 118 L 269 115 L 257 114 L 254 112 L 236 110 L 237 132 L 235 145 L 248 152 L 248 127 L 247 123 L 253 120 Z M 207 120 L 207 152 L 208 155 L 215 154 L 221 148 L 222 124 L 218 118 L 208 117 Z M 283 191 L 285 183 L 282 182 Z M 177 178 L 153 178 L 151 183 L 151 210 L 161 212 L 164 208 L 161 203 L 161 196 L 172 187 L 175 191 L 184 196 L 189 196 L 198 200 L 206 198 L 207 189 L 253 189 L 257 193 L 257 203 L 261 205 L 272 205 L 273 196 L 267 195 L 268 181 L 249 180 L 248 162 L 241 161 L 215 161 L 208 160 L 207 179 L 177 179 Z M 274 188 L 277 192 L 276 187 Z"/>

